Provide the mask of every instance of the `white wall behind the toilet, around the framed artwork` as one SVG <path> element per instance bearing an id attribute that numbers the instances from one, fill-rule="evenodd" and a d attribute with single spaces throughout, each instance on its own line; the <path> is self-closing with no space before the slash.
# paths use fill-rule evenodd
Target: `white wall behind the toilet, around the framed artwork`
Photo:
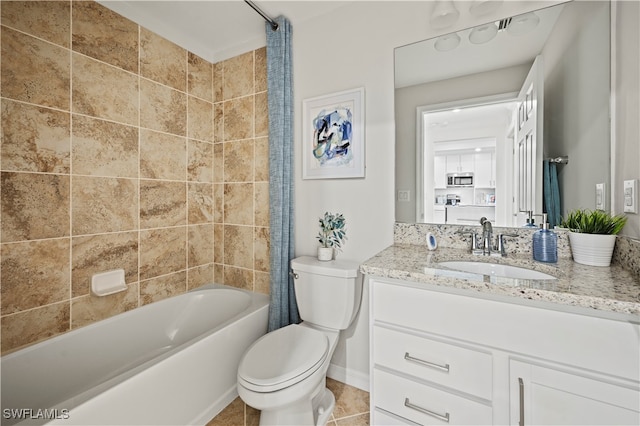
<path id="1" fill-rule="evenodd" d="M 340 257 L 363 261 L 393 243 L 394 89 L 393 49 L 425 38 L 468 28 L 505 15 L 556 2 L 504 2 L 482 19 L 456 1 L 458 23 L 429 27 L 433 2 L 358 1 L 293 28 L 295 96 L 296 255 L 314 255 L 317 220 L 325 211 L 343 213 L 349 240 Z M 302 100 L 355 87 L 365 88 L 366 177 L 302 180 Z M 360 315 L 344 333 L 333 358 L 332 376 L 368 387 L 368 309 L 365 289 Z M 342 376 L 342 377 L 341 377 Z"/>

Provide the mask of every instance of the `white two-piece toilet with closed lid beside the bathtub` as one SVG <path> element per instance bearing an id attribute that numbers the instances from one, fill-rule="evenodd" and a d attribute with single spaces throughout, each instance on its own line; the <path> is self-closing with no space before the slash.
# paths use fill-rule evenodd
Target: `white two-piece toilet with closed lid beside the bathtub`
<path id="1" fill-rule="evenodd" d="M 351 325 L 362 298 L 355 262 L 315 257 L 291 261 L 302 323 L 255 341 L 240 360 L 238 394 L 261 410 L 261 425 L 324 425 L 335 407 L 326 375 L 340 331 Z"/>

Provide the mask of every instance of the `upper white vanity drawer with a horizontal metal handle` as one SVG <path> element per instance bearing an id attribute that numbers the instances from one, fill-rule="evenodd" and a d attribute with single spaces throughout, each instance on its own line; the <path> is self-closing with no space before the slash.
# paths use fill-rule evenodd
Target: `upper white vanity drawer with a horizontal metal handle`
<path id="1" fill-rule="evenodd" d="M 372 343 L 377 365 L 491 399 L 491 354 L 380 326 Z"/>

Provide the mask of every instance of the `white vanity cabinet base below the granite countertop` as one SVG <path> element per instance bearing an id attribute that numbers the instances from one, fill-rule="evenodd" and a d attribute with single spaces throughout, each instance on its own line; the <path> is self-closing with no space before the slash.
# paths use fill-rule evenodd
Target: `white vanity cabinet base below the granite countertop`
<path id="1" fill-rule="evenodd" d="M 640 424 L 638 319 L 368 280 L 371 424 Z"/>

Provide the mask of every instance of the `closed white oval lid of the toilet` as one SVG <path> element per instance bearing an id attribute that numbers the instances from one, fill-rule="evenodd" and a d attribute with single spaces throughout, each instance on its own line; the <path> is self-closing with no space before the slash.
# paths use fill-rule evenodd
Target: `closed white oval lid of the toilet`
<path id="1" fill-rule="evenodd" d="M 329 339 L 324 333 L 289 325 L 258 339 L 238 367 L 243 385 L 272 392 L 298 383 L 315 372 L 327 357 Z"/>

